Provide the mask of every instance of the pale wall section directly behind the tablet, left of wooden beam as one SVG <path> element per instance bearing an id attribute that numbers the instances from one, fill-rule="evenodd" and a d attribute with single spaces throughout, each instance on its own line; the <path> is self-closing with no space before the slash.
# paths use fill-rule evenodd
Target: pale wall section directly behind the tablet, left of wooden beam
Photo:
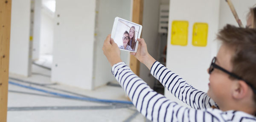
<path id="1" fill-rule="evenodd" d="M 111 34 L 115 17 L 131 21 L 132 0 L 97 0 L 95 42 L 93 51 L 93 88 L 115 81 L 111 74 L 111 65 L 103 54 L 102 46 L 108 34 Z M 114 6 L 114 7 L 113 7 Z M 129 64 L 130 54 L 121 51 L 121 59 Z"/>

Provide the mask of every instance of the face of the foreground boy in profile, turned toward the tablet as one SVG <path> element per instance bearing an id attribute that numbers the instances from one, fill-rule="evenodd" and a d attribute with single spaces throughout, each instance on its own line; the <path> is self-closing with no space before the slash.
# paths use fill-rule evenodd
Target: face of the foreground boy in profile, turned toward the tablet
<path id="1" fill-rule="evenodd" d="M 221 45 L 216 56 L 216 64 L 231 72 L 233 67 L 231 63 L 233 53 L 234 52 L 226 45 Z M 234 79 L 230 79 L 228 74 L 220 71 L 219 69 L 214 69 L 209 76 L 208 96 L 210 96 L 217 104 L 227 102 L 227 99 L 231 96 L 231 87 L 229 86 L 232 86 L 233 82 Z"/>

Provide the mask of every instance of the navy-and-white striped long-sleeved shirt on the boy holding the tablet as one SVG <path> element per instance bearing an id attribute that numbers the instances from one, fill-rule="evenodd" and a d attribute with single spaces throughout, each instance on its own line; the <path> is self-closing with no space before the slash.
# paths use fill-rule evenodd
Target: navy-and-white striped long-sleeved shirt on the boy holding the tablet
<path id="1" fill-rule="evenodd" d="M 206 93 L 193 88 L 159 62 L 154 62 L 151 74 L 191 108 L 180 106 L 162 94 L 157 94 L 124 62 L 113 65 L 112 74 L 137 110 L 153 122 L 256 122 L 255 116 L 242 111 L 210 108 L 218 105 Z"/>

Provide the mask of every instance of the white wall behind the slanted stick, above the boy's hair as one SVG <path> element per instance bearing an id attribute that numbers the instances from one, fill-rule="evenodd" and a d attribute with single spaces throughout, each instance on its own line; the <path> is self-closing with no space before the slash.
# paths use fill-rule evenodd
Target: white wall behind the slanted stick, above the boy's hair
<path id="1" fill-rule="evenodd" d="M 236 9 L 236 12 L 242 21 L 244 27 L 246 26 L 246 16 L 249 12 L 249 8 L 256 4 L 255 0 L 232 0 L 232 3 Z M 220 2 L 220 20 L 219 28 L 223 28 L 227 23 L 238 26 L 235 17 L 233 16 L 227 2 L 221 0 Z"/>

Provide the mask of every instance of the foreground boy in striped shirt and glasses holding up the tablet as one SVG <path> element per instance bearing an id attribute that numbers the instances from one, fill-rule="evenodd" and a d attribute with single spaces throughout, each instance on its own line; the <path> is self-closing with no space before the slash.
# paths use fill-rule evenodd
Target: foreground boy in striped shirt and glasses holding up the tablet
<path id="1" fill-rule="evenodd" d="M 120 51 L 110 35 L 102 49 L 117 81 L 137 110 L 151 121 L 256 122 L 256 30 L 227 25 L 218 32 L 217 39 L 222 45 L 208 69 L 207 93 L 193 88 L 154 60 L 143 39 L 138 39 L 137 53 L 131 53 L 165 88 L 191 108 L 157 94 L 137 77 L 120 59 Z"/>

